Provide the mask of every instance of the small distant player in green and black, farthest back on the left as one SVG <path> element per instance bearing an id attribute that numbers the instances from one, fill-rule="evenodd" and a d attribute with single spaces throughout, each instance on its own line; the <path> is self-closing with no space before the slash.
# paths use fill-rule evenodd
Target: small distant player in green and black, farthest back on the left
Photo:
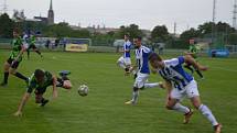
<path id="1" fill-rule="evenodd" d="M 33 49 L 35 53 L 37 53 L 41 57 L 43 57 L 42 56 L 42 54 L 41 54 L 41 52 L 37 49 L 37 47 L 35 46 L 35 43 L 36 43 L 36 37 L 35 37 L 35 35 L 33 35 L 33 34 L 29 34 L 29 36 L 28 36 L 28 38 L 26 38 L 28 41 L 28 48 L 26 48 L 26 51 L 28 51 L 28 59 L 30 59 L 30 52 L 31 52 L 31 49 Z"/>

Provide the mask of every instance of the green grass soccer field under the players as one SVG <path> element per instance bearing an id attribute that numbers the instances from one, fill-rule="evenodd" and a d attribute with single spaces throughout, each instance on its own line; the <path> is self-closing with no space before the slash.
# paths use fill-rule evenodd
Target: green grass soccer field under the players
<path id="1" fill-rule="evenodd" d="M 8 51 L 0 51 L 1 67 L 8 55 Z M 159 88 L 141 91 L 137 106 L 125 106 L 131 98 L 133 79 L 125 77 L 116 66 L 119 54 L 54 52 L 43 55 L 42 59 L 31 53 L 30 60 L 25 56 L 19 71 L 30 76 L 35 68 L 55 74 L 68 69 L 73 89 L 68 92 L 60 88 L 58 98 L 44 108 L 34 103 L 32 93 L 24 114 L 15 118 L 13 113 L 25 91 L 25 82 L 10 76 L 9 86 L 0 87 L 0 133 L 213 133 L 208 121 L 197 111 L 190 124 L 182 124 L 182 114 L 164 108 L 165 91 Z M 200 62 L 209 66 L 204 73 L 205 79 L 197 80 L 203 102 L 224 125 L 224 133 L 237 133 L 237 59 L 200 58 Z M 2 77 L 1 71 L 1 80 Z M 161 78 L 151 75 L 149 80 Z M 77 93 L 82 84 L 89 87 L 87 97 Z M 52 88 L 45 97 L 51 99 Z M 183 103 L 191 106 L 187 100 Z"/>

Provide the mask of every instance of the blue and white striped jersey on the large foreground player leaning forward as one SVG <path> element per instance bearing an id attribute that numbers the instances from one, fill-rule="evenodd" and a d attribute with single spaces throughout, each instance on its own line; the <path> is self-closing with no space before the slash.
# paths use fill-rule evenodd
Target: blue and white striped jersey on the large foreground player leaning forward
<path id="1" fill-rule="evenodd" d="M 158 70 L 165 80 L 171 81 L 172 86 L 179 90 L 183 90 L 194 79 L 183 69 L 183 56 L 168 59 L 164 60 L 165 67 Z"/>

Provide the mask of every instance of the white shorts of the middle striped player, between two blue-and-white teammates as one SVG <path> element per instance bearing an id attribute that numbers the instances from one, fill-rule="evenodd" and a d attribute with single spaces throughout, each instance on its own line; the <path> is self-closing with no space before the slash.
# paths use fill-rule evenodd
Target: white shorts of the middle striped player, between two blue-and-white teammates
<path id="1" fill-rule="evenodd" d="M 138 73 L 138 77 L 134 80 L 133 87 L 137 87 L 139 89 L 144 87 L 144 84 L 147 82 L 148 78 L 149 78 L 149 74 Z"/>

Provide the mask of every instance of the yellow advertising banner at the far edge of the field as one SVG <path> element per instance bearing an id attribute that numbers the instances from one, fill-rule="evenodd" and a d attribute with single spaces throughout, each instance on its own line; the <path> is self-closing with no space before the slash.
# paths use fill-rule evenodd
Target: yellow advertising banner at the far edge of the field
<path id="1" fill-rule="evenodd" d="M 67 52 L 87 52 L 87 44 L 66 44 Z"/>

